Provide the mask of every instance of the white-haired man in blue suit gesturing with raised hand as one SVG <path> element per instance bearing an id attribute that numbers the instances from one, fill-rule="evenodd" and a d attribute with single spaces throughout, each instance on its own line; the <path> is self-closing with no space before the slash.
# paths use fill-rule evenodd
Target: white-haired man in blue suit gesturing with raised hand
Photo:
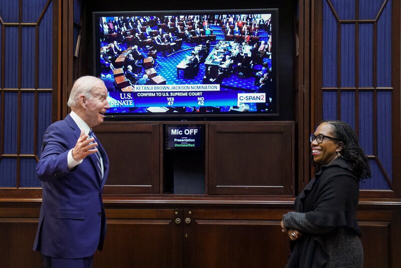
<path id="1" fill-rule="evenodd" d="M 71 113 L 46 130 L 36 167 L 43 200 L 33 249 L 46 268 L 92 267 L 105 235 L 102 189 L 109 160 L 92 131 L 110 108 L 104 82 L 79 78 L 68 105 Z"/>

